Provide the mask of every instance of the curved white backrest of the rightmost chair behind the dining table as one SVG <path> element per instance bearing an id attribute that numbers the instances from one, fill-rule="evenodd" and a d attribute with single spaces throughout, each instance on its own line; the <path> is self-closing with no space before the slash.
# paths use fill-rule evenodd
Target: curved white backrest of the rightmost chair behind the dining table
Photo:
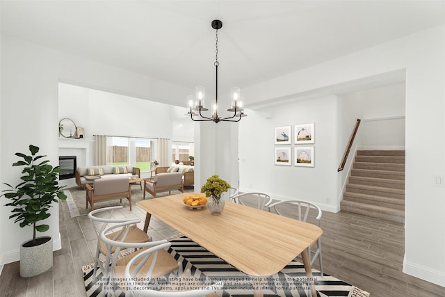
<path id="1" fill-rule="evenodd" d="M 322 211 L 318 205 L 304 200 L 284 200 L 268 205 L 269 211 L 273 209 L 280 216 L 288 218 L 297 218 L 307 222 L 309 218 L 316 220 L 316 225 L 320 225 Z M 314 223 L 314 222 L 309 222 Z"/>

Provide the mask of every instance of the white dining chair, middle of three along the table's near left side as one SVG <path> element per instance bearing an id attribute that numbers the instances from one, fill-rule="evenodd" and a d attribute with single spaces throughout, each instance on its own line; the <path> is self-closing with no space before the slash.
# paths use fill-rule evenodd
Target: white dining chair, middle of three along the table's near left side
<path id="1" fill-rule="evenodd" d="M 161 241 L 147 241 L 143 243 L 129 243 L 127 241 L 129 234 L 131 234 L 131 225 L 140 222 L 140 220 L 131 220 L 129 222 L 118 223 L 100 233 L 100 239 L 106 246 L 106 257 L 102 270 L 102 285 L 106 296 L 115 296 L 117 289 L 114 284 L 124 284 L 124 269 L 125 266 L 140 253 L 154 246 L 168 243 L 166 240 Z M 108 234 L 115 234 L 111 237 Z M 170 244 L 170 243 L 168 243 Z M 165 246 L 163 246 L 165 247 Z M 129 252 L 125 255 L 121 251 L 127 248 L 133 248 L 134 252 Z M 161 278 L 163 275 L 168 275 L 177 271 L 175 275 L 182 275 L 182 262 L 177 262 L 175 257 L 170 255 L 167 250 L 156 249 L 156 257 L 145 259 L 145 261 L 138 267 L 141 271 L 150 271 L 152 278 Z M 111 285 L 113 284 L 113 285 Z"/>

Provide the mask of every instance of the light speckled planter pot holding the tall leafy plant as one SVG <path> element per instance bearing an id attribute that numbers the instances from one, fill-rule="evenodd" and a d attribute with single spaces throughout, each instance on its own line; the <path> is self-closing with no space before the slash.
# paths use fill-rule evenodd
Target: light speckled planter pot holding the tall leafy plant
<path id="1" fill-rule="evenodd" d="M 44 273 L 53 266 L 53 239 L 49 236 L 36 238 L 42 241 L 38 246 L 20 246 L 20 276 L 29 278 Z M 31 240 L 32 241 L 32 240 Z"/>

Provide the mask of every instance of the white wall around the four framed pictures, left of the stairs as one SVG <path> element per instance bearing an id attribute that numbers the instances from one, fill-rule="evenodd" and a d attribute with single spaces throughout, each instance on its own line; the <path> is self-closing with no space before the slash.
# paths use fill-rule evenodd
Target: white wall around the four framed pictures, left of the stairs
<path id="1" fill-rule="evenodd" d="M 268 193 L 279 200 L 316 202 L 325 210 L 337 211 L 337 156 L 339 124 L 337 96 L 282 104 L 249 111 L 240 123 L 240 190 Z M 265 119 L 264 114 L 270 118 Z M 315 143 L 274 145 L 275 127 L 315 124 Z M 274 147 L 314 147 L 312 167 L 274 165 Z"/>

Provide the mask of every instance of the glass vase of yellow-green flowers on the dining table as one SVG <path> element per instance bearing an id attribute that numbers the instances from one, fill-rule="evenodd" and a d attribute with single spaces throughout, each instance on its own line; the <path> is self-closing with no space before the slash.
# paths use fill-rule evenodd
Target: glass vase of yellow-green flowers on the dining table
<path id="1" fill-rule="evenodd" d="M 221 199 L 223 192 L 229 191 L 230 185 L 218 175 L 209 177 L 201 188 L 201 193 L 205 193 L 206 197 L 210 197 L 207 201 L 207 207 L 211 214 L 221 214 L 224 209 L 225 202 Z"/>

